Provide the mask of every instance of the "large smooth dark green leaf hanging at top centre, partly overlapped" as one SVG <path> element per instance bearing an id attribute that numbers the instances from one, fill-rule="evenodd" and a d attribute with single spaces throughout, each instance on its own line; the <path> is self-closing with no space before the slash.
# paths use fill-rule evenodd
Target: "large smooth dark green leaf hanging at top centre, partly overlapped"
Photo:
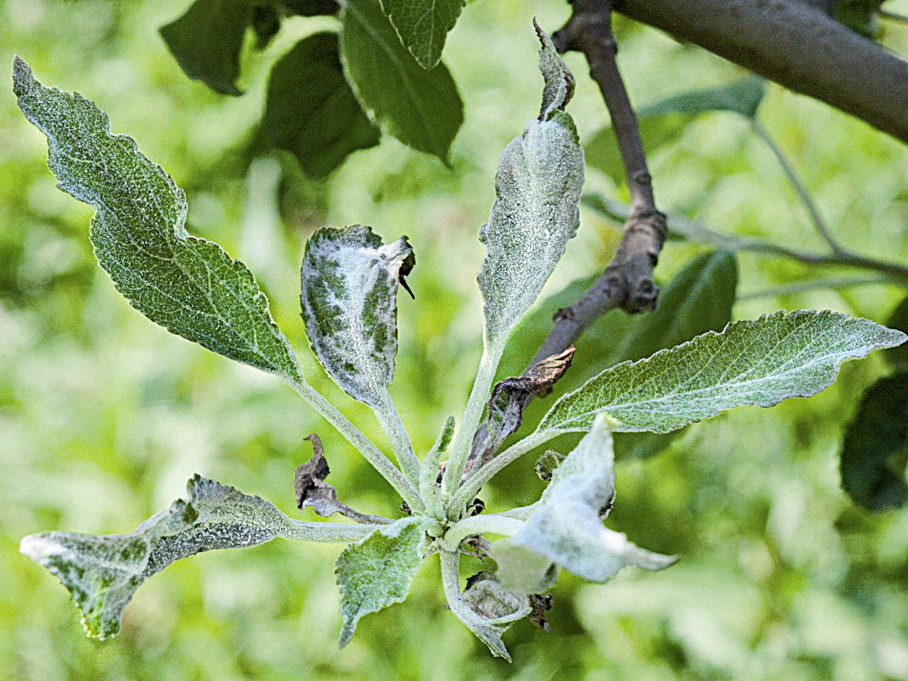
<path id="1" fill-rule="evenodd" d="M 341 62 L 360 103 L 400 142 L 448 163 L 463 103 L 444 64 L 423 69 L 400 44 L 378 0 L 348 0 Z"/>

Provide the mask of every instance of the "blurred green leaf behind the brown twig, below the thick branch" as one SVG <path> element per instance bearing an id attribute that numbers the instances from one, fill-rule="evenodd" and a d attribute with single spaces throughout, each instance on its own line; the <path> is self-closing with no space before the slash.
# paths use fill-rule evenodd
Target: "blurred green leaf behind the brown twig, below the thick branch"
<path id="1" fill-rule="evenodd" d="M 640 138 L 647 155 L 673 140 L 700 114 L 730 111 L 753 118 L 765 95 L 765 81 L 756 75 L 728 84 L 667 97 L 637 111 Z M 625 182 L 624 164 L 618 151 L 615 129 L 600 130 L 587 143 L 587 163 L 606 173 L 615 183 Z"/>

